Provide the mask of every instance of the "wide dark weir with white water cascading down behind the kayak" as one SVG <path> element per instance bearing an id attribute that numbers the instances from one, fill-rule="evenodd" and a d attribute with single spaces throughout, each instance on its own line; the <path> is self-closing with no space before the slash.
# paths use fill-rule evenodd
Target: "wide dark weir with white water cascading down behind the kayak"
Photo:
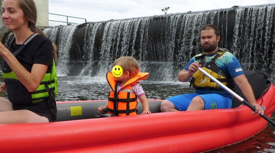
<path id="1" fill-rule="evenodd" d="M 89 22 L 43 31 L 58 45 L 58 74 L 105 76 L 113 61 L 133 56 L 148 80 L 177 81 L 190 58 L 201 53 L 199 30 L 220 29 L 219 47 L 243 69 L 266 72 L 275 81 L 274 4 Z M 8 35 L 7 35 L 8 36 Z"/>

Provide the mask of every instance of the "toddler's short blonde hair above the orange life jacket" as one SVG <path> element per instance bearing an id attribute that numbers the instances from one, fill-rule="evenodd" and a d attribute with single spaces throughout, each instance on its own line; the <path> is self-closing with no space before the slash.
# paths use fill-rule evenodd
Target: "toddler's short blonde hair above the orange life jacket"
<path id="1" fill-rule="evenodd" d="M 129 72 L 129 78 L 133 78 L 135 75 L 139 73 L 138 62 L 135 58 L 124 56 L 115 60 L 113 66 L 119 65 L 122 67 L 123 72 Z"/>

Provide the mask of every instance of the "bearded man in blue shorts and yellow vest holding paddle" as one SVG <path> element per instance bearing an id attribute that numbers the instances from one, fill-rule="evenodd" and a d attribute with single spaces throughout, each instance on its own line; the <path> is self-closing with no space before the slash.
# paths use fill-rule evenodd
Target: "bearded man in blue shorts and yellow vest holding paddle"
<path id="1" fill-rule="evenodd" d="M 220 40 L 218 28 L 211 24 L 203 26 L 200 38 L 204 52 L 192 57 L 188 65 L 178 74 L 178 80 L 181 82 L 187 82 L 191 78 L 190 85 L 195 88 L 195 93 L 177 95 L 164 100 L 161 103 L 161 111 L 231 108 L 233 96 L 198 71 L 197 67 L 202 67 L 227 87 L 230 87 L 234 80 L 248 102 L 256 108 L 252 114 L 263 114 L 237 58 L 229 50 L 218 47 Z"/>

